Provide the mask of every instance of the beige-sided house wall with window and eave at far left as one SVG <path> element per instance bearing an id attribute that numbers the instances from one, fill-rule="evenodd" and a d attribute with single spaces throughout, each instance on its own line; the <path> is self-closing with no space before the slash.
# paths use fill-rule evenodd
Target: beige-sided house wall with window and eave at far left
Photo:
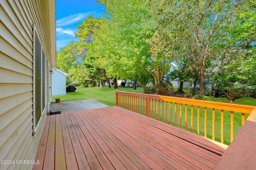
<path id="1" fill-rule="evenodd" d="M 33 167 L 16 160 L 35 160 L 50 107 L 55 5 L 55 0 L 0 1 L 0 160 L 15 161 L 0 169 Z"/>

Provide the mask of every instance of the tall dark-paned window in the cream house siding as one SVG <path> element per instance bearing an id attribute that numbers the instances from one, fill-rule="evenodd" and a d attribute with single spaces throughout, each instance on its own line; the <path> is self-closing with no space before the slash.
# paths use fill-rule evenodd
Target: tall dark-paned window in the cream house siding
<path id="1" fill-rule="evenodd" d="M 40 122 L 45 109 L 45 53 L 42 49 L 38 34 L 34 29 L 33 56 L 33 130 Z"/>

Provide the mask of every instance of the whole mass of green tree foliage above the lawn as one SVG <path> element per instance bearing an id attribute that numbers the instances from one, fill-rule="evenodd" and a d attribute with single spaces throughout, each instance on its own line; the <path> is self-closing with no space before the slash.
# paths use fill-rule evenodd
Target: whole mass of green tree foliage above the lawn
<path id="1" fill-rule="evenodd" d="M 79 68 L 85 79 L 115 83 L 147 77 L 155 85 L 176 79 L 195 86 L 199 80 L 200 95 L 205 95 L 206 80 L 216 84 L 216 77 L 253 84 L 255 1 L 97 2 L 106 7 L 106 13 L 102 18 L 89 15 L 77 26 L 75 36 L 80 42 L 70 42 L 60 52 L 63 58 L 58 61 L 65 61 L 61 64 L 64 71 Z"/>

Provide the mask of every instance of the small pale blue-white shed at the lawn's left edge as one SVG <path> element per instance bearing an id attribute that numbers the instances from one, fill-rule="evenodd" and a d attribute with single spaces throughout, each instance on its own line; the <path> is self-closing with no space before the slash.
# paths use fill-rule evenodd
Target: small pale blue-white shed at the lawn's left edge
<path id="1" fill-rule="evenodd" d="M 67 73 L 59 69 L 53 70 L 52 74 L 52 95 L 66 95 Z"/>

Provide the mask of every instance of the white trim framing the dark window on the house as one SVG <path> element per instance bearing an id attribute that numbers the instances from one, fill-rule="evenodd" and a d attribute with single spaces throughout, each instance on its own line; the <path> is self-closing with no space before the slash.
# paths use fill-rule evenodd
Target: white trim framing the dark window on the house
<path id="1" fill-rule="evenodd" d="M 33 135 L 36 134 L 36 130 L 38 128 L 38 125 L 40 124 L 41 120 L 42 120 L 42 115 L 46 109 L 46 107 L 44 107 L 44 110 L 42 111 L 42 107 L 41 107 L 41 117 L 36 125 L 36 113 L 35 113 L 35 110 L 36 110 L 36 106 L 34 105 L 34 103 L 36 103 L 36 99 L 35 99 L 35 96 L 36 96 L 36 92 L 35 92 L 35 89 L 36 89 L 36 77 L 35 77 L 35 70 L 36 70 L 36 67 L 35 67 L 35 48 L 36 48 L 36 45 L 35 45 L 35 40 L 36 40 L 36 36 L 35 35 L 38 35 L 38 32 L 36 30 L 36 26 L 35 24 L 33 23 Z M 42 43 L 40 41 L 40 37 L 38 36 L 38 39 L 39 39 L 39 42 L 41 44 L 41 80 L 42 80 L 42 51 L 43 51 L 43 47 L 42 47 Z M 45 58 L 44 60 L 46 60 L 46 54 L 45 55 Z M 45 77 L 45 71 L 44 71 L 44 77 Z M 44 82 L 45 83 L 45 82 Z M 41 83 L 41 101 L 43 102 L 43 95 L 44 95 L 44 99 L 45 99 L 45 91 L 43 92 L 43 88 L 42 88 L 42 85 L 43 83 Z M 45 102 L 45 101 L 44 101 Z M 42 103 L 41 103 L 42 104 Z"/>

